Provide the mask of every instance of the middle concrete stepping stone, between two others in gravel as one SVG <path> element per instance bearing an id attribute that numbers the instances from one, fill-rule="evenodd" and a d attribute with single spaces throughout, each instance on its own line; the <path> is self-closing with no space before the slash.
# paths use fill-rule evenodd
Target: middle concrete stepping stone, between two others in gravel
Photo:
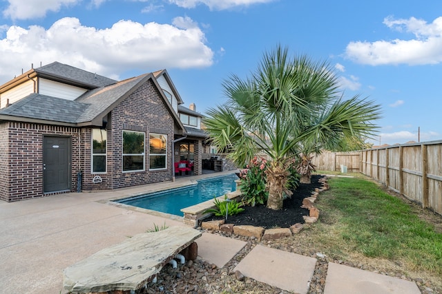
<path id="1" fill-rule="evenodd" d="M 234 271 L 282 290 L 306 294 L 315 264 L 316 258 L 256 245 Z"/>

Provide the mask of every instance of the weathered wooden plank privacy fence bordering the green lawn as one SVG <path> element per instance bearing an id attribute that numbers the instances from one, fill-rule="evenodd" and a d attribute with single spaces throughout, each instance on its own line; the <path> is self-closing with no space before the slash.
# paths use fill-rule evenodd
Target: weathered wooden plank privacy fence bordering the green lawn
<path id="1" fill-rule="evenodd" d="M 349 171 L 359 171 L 442 214 L 442 140 L 357 152 L 327 152 L 316 156 L 313 163 L 317 169 L 332 171 L 347 165 Z"/>

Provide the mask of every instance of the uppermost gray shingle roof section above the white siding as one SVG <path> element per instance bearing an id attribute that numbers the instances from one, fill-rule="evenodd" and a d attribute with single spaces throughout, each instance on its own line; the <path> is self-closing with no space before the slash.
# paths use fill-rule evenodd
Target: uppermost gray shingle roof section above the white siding
<path id="1" fill-rule="evenodd" d="M 106 76 L 86 72 L 86 70 L 80 70 L 77 67 L 59 63 L 57 61 L 35 68 L 35 72 L 38 74 L 47 74 L 55 78 L 64 78 L 66 81 L 72 81 L 73 83 L 80 83 L 92 87 L 103 87 L 117 83 L 117 81 L 112 78 L 106 78 Z"/>

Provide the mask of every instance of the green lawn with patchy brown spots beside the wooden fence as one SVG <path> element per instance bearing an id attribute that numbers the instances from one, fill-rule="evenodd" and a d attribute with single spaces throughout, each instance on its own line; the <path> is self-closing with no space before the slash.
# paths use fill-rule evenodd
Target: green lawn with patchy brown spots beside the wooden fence
<path id="1" fill-rule="evenodd" d="M 329 185 L 320 194 L 322 213 L 314 228 L 324 251 L 338 259 L 362 255 L 442 276 L 442 233 L 411 204 L 362 178 L 334 177 Z"/>

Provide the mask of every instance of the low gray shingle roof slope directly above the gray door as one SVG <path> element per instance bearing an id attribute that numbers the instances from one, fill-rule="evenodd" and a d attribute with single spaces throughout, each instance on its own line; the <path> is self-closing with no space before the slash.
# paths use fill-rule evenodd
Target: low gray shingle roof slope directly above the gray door
<path id="1" fill-rule="evenodd" d="M 0 109 L 0 115 L 76 123 L 87 107 L 85 103 L 34 93 Z"/>

